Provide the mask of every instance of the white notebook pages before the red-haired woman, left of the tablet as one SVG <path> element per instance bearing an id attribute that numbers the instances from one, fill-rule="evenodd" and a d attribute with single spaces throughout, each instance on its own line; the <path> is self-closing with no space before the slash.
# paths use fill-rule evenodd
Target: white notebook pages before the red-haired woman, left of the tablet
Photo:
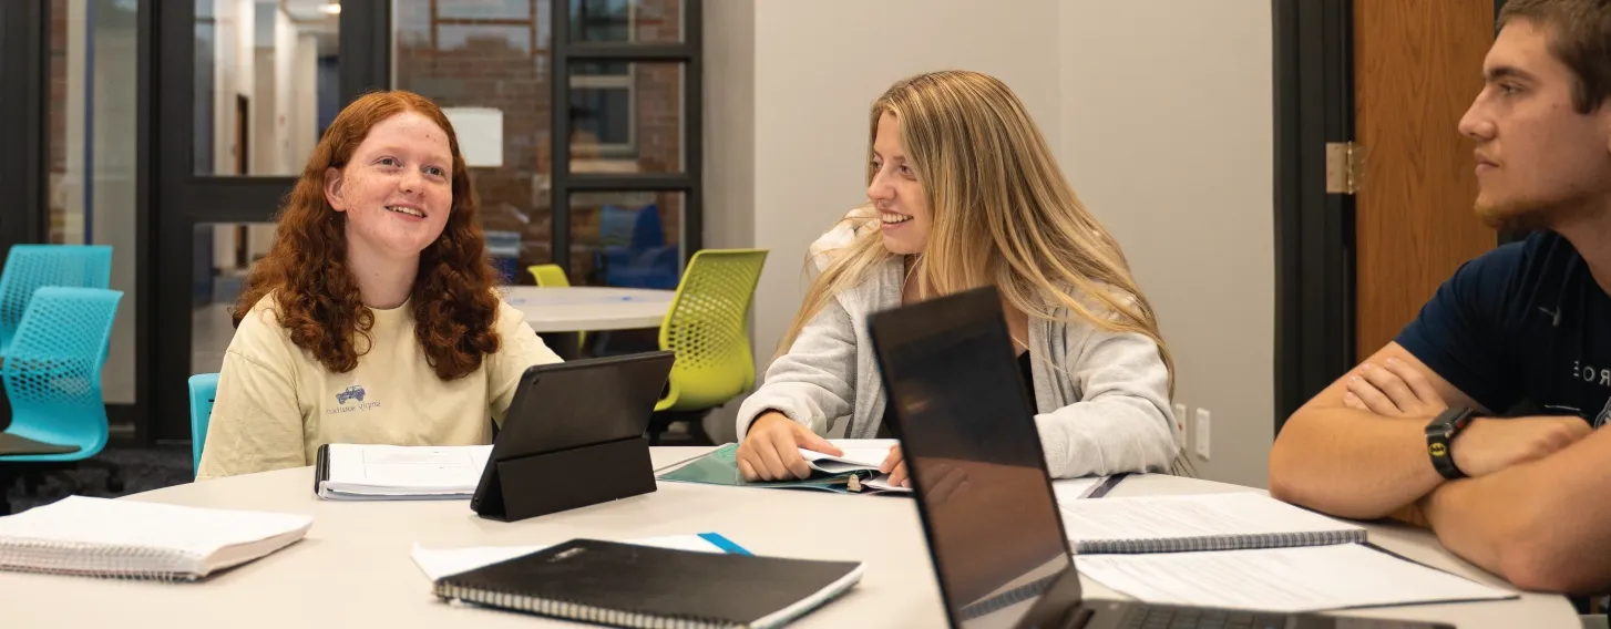
<path id="1" fill-rule="evenodd" d="M 329 444 L 319 450 L 325 500 L 469 499 L 491 446 Z"/>

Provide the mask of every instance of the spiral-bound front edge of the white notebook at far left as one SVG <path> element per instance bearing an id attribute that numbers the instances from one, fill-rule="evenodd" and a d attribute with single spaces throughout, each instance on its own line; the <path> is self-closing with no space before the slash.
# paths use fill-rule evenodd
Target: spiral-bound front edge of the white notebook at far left
<path id="1" fill-rule="evenodd" d="M 182 553 L 137 545 L 63 544 L 35 539 L 0 542 L 0 569 L 14 573 L 168 582 L 197 581 L 197 574 L 172 568 L 182 560 Z"/>

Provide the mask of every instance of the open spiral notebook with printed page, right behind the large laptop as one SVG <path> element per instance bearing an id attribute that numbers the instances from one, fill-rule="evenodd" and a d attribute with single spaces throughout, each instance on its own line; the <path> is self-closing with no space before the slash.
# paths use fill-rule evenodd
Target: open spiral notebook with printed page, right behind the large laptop
<path id="1" fill-rule="evenodd" d="M 1152 553 L 1353 544 L 1363 526 L 1258 492 L 1065 500 L 1075 553 Z"/>

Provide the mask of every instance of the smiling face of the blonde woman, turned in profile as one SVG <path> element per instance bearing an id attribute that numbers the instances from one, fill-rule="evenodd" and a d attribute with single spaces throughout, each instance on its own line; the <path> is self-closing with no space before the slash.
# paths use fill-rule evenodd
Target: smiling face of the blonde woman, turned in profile
<path id="1" fill-rule="evenodd" d="M 917 169 L 901 142 L 901 121 L 888 113 L 878 117 L 872 171 L 867 198 L 878 208 L 884 248 L 901 256 L 923 253 L 934 224 L 928 211 L 928 191 L 917 180 Z"/>

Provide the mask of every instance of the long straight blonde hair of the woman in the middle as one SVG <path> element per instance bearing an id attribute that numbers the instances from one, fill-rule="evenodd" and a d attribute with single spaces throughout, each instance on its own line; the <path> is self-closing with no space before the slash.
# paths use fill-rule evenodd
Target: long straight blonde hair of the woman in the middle
<path id="1" fill-rule="evenodd" d="M 933 214 L 928 243 L 909 275 L 918 294 L 994 285 L 1029 317 L 1144 335 L 1158 344 L 1173 397 L 1174 360 L 1152 304 L 1118 243 L 1075 196 L 1046 138 L 1005 84 L 979 72 L 944 71 L 889 87 L 873 101 L 868 121 L 868 185 L 883 114 L 901 125 Z M 872 216 L 876 220 L 876 212 Z M 876 228 L 857 230 L 812 282 L 780 351 L 794 344 L 828 299 L 863 282 L 891 256 Z M 1058 315 L 1058 309 L 1073 317 Z"/>

